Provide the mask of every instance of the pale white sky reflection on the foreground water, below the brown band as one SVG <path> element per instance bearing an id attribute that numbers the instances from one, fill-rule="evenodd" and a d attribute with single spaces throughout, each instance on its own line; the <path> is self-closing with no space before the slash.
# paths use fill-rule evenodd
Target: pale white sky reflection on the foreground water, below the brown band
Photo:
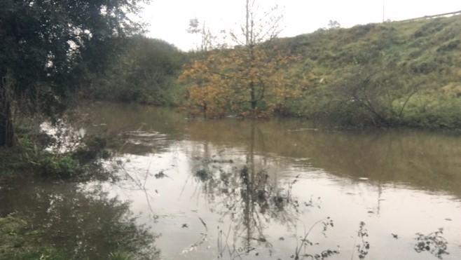
<path id="1" fill-rule="evenodd" d="M 246 149 L 234 146 L 224 151 L 223 146 L 187 141 L 170 144 L 166 149 L 165 144 L 164 149 L 155 149 L 158 153 L 143 153 L 144 156 L 125 153 L 122 158 L 125 170 L 138 186 L 128 178 L 125 182 L 107 184 L 106 189 L 113 189 L 114 195 L 132 200 L 132 210 L 142 212 L 139 222 L 162 234 L 156 245 L 163 259 L 216 259 L 217 240 L 223 239 L 219 231 L 230 233 L 228 245 L 245 247 L 246 233 L 234 234 L 232 229 L 238 229 L 235 228 L 237 223 L 230 219 L 231 214 L 223 214 L 227 208 L 220 202 L 226 196 L 207 190 L 193 172 L 200 170 L 204 162 L 208 163 L 207 167 L 221 165 L 229 171 L 248 160 Z M 212 160 L 222 162 L 209 163 Z M 228 160 L 232 163 L 226 163 Z M 308 239 L 319 245 L 313 245 L 310 253 L 339 249 L 340 254 L 329 259 L 351 259 L 352 254 L 358 259 L 354 245 L 359 243 L 359 222 L 364 221 L 369 233 L 366 240 L 371 245 L 366 259 L 436 259 L 428 252 L 416 253 L 413 245 L 415 233 L 427 234 L 438 228 L 444 228 L 444 238 L 449 242 L 450 255 L 443 259 L 461 259 L 459 198 L 404 184 L 338 177 L 312 167 L 308 159 L 295 160 L 266 153 L 264 156 L 255 154 L 253 160 L 257 168 L 268 170 L 269 182 L 278 188 L 287 189 L 299 175 L 291 196 L 298 200 L 300 214 L 287 209 L 293 216 L 288 223 L 263 219 L 260 223 L 263 223 L 261 228 L 266 241 L 252 238 L 251 245 L 256 249 L 242 256 L 244 259 L 256 258 L 256 253 L 260 259 L 289 259 L 305 230 L 326 217 L 333 219 L 334 227 L 326 231 L 326 238 L 322 235 L 322 225 L 313 229 Z M 160 172 L 163 178 L 156 178 Z M 306 206 L 311 200 L 314 206 Z M 392 233 L 397 234 L 398 239 L 393 238 Z M 206 240 L 202 242 L 203 234 Z M 191 249 L 194 243 L 197 247 Z M 223 259 L 231 258 L 230 255 L 237 257 L 226 251 Z"/>

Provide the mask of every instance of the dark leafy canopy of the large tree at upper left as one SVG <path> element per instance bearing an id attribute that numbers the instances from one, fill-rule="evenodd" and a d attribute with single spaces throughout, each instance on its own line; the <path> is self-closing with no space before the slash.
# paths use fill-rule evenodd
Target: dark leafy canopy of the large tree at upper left
<path id="1" fill-rule="evenodd" d="M 53 107 L 101 69 L 113 39 L 137 34 L 147 0 L 0 0 L 0 146 L 11 146 L 11 100 Z M 21 97 L 19 99 L 18 97 Z"/>

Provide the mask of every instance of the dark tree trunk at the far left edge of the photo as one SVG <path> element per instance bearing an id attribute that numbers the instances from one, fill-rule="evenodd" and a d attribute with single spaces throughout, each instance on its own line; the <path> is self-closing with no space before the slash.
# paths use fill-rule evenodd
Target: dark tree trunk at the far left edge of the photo
<path id="1" fill-rule="evenodd" d="M 6 92 L 6 76 L 0 78 L 0 147 L 11 147 L 14 144 L 11 107 Z"/>

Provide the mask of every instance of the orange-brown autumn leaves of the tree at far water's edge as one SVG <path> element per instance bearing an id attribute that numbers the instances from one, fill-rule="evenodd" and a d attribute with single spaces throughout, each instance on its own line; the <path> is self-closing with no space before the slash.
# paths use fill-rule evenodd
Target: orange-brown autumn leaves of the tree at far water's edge
<path id="1" fill-rule="evenodd" d="M 284 111 L 307 84 L 305 75 L 291 70 L 295 60 L 262 45 L 213 50 L 188 64 L 179 77 L 189 86 L 184 109 L 205 118 L 259 118 Z"/>

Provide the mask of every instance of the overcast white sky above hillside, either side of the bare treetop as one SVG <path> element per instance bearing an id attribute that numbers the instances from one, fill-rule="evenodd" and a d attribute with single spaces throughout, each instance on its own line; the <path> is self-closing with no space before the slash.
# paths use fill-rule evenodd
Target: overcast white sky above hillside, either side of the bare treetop
<path id="1" fill-rule="evenodd" d="M 283 31 L 296 36 L 327 27 L 336 20 L 341 27 L 385 20 L 405 20 L 424 15 L 461 11 L 458 0 L 256 0 L 261 8 L 277 4 L 283 11 Z M 191 50 L 196 37 L 186 32 L 192 18 L 205 21 L 213 31 L 242 24 L 245 0 L 153 0 L 143 18 L 149 22 L 148 36 L 163 39 L 181 50 Z"/>

